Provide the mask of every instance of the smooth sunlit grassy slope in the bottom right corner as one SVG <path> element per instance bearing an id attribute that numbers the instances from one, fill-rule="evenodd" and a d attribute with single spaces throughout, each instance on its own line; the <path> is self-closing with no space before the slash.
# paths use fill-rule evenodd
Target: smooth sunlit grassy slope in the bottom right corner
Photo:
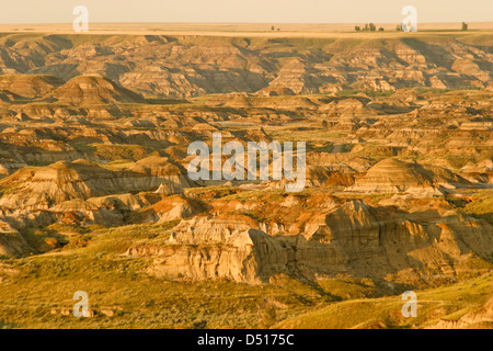
<path id="1" fill-rule="evenodd" d="M 346 329 L 415 328 L 443 320 L 458 320 L 483 306 L 493 294 L 490 273 L 451 286 L 419 292 L 417 317 L 404 318 L 401 296 L 351 299 L 309 312 L 276 325 L 276 328 Z M 490 327 L 493 327 L 491 325 Z"/>

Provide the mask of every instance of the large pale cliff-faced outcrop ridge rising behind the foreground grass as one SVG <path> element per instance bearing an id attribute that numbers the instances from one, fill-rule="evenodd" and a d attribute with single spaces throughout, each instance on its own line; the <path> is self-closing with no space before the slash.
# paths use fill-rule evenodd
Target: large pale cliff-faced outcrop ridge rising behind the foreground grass
<path id="1" fill-rule="evenodd" d="M 433 283 L 454 279 L 454 260 L 471 252 L 488 257 L 493 245 L 488 223 L 456 214 L 423 226 L 362 201 L 312 216 L 302 235 L 272 237 L 259 227 L 264 226 L 239 215 L 194 217 L 177 225 L 167 242 L 137 245 L 127 254 L 153 258 L 151 274 L 191 281 L 256 284 L 279 273 L 303 279 L 351 273 Z M 436 271 L 443 273 L 432 276 Z"/>

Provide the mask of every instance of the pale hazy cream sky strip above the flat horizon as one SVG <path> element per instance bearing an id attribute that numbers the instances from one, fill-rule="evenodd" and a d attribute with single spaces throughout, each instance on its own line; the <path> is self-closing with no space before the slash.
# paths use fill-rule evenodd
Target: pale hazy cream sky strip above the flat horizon
<path id="1" fill-rule="evenodd" d="M 419 22 L 493 21 L 493 0 L 0 0 L 0 24 L 70 23 L 79 4 L 90 22 L 398 23 L 408 4 Z"/>

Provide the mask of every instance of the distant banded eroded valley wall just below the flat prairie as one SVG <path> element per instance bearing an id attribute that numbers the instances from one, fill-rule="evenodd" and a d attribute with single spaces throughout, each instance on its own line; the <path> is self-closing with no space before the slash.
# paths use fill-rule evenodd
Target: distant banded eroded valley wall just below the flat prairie
<path id="1" fill-rule="evenodd" d="M 161 98 L 486 88 L 491 42 L 490 34 L 366 39 L 3 34 L 0 72 L 66 81 L 96 73 Z"/>

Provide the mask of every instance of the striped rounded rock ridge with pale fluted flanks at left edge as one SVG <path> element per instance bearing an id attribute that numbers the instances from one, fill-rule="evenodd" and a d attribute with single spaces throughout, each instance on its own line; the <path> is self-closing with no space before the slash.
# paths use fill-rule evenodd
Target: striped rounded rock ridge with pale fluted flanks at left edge
<path id="1" fill-rule="evenodd" d="M 181 169 L 167 158 L 142 159 L 117 172 L 84 160 L 60 161 L 47 167 L 22 169 L 3 179 L 2 186 L 15 190 L 0 199 L 0 207 L 48 210 L 73 199 L 152 191 L 163 182 L 175 186 L 188 185 Z"/>

